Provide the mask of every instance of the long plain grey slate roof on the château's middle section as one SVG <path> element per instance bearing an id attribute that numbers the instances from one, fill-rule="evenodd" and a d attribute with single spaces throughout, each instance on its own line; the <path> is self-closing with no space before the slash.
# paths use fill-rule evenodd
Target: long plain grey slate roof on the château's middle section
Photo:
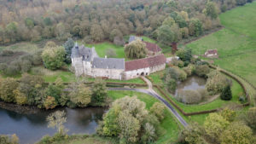
<path id="1" fill-rule="evenodd" d="M 125 59 L 95 57 L 92 61 L 92 67 L 124 70 L 125 69 Z"/>

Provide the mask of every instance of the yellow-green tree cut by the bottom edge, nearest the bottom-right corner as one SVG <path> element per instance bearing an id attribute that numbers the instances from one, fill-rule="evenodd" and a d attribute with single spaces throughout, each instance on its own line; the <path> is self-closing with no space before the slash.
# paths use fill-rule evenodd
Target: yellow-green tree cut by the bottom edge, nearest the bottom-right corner
<path id="1" fill-rule="evenodd" d="M 253 144 L 253 131 L 241 122 L 230 124 L 220 136 L 221 144 Z"/>

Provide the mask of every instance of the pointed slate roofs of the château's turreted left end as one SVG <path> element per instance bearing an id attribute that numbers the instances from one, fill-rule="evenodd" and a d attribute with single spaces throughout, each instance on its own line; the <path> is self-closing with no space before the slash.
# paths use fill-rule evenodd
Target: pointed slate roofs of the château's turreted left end
<path id="1" fill-rule="evenodd" d="M 93 57 L 95 56 L 97 57 L 95 53 L 96 52 L 94 51 L 94 49 L 84 47 L 84 45 L 82 46 L 75 45 L 72 49 L 71 57 L 83 56 L 83 60 L 91 61 Z"/>

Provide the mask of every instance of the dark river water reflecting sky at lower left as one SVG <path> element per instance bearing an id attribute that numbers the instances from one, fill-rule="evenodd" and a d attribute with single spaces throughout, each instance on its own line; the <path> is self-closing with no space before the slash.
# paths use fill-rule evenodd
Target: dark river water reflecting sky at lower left
<path id="1" fill-rule="evenodd" d="M 102 120 L 103 113 L 108 111 L 102 107 L 79 109 L 63 107 L 58 110 L 66 112 L 67 123 L 64 125 L 68 129 L 68 135 L 95 133 L 98 121 Z M 56 130 L 48 128 L 45 119 L 49 113 L 55 111 L 19 114 L 0 108 L 0 135 L 16 134 L 21 144 L 34 143 L 44 135 L 54 135 Z"/>

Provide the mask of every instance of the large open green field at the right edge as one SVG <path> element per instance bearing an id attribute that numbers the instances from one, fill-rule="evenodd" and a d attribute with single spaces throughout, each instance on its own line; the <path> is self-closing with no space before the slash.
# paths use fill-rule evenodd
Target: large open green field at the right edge
<path id="1" fill-rule="evenodd" d="M 256 2 L 220 15 L 224 29 L 187 44 L 195 55 L 218 49 L 214 63 L 256 86 Z"/>

